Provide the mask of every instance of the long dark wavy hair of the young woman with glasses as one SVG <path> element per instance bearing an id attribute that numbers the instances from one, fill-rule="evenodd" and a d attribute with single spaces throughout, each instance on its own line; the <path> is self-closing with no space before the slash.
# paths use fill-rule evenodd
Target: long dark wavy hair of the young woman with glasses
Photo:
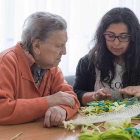
<path id="1" fill-rule="evenodd" d="M 113 8 L 101 19 L 95 38 L 92 40 L 95 45 L 88 54 L 90 66 L 100 70 L 101 82 L 111 85 L 115 76 L 115 55 L 108 50 L 103 33 L 111 24 L 120 22 L 128 27 L 130 33 L 129 47 L 124 54 L 125 70 L 122 87 L 140 85 L 140 25 L 136 15 L 128 8 Z"/>

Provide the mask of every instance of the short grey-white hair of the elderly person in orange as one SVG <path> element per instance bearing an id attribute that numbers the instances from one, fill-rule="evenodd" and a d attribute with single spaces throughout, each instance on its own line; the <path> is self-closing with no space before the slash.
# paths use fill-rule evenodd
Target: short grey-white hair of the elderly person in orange
<path id="1" fill-rule="evenodd" d="M 23 25 L 22 47 L 30 50 L 36 39 L 45 41 L 52 32 L 66 29 L 67 23 L 59 15 L 49 12 L 33 13 L 27 17 Z"/>

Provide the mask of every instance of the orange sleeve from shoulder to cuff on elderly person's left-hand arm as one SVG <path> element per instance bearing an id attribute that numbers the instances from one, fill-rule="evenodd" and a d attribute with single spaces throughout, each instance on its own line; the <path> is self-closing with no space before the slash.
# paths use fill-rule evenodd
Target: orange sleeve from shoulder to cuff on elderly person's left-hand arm
<path id="1" fill-rule="evenodd" d="M 19 124 L 44 117 L 48 109 L 46 97 L 20 97 L 23 92 L 19 93 L 17 86 L 17 69 L 13 63 L 6 63 L 0 63 L 0 124 Z"/>

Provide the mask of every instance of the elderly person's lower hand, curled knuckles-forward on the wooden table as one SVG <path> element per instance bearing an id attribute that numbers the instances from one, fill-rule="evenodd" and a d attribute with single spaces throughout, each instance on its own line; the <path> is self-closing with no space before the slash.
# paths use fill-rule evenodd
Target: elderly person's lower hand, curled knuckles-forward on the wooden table
<path id="1" fill-rule="evenodd" d="M 66 119 L 66 110 L 60 106 L 50 107 L 45 114 L 44 126 L 58 126 Z"/>

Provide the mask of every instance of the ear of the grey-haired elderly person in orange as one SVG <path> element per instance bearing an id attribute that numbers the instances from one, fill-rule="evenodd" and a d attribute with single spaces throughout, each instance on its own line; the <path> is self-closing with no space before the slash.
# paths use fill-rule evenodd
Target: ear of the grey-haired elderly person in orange
<path id="1" fill-rule="evenodd" d="M 32 47 L 33 47 L 33 51 L 36 54 L 40 54 L 40 44 L 41 41 L 40 39 L 36 39 L 33 43 L 32 43 Z"/>

